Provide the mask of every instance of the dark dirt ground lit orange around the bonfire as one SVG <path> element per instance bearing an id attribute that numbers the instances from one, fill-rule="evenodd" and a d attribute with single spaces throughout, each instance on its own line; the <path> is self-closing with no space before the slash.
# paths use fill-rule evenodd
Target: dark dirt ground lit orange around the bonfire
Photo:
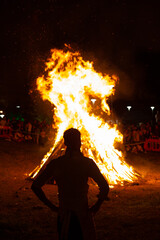
<path id="1" fill-rule="evenodd" d="M 0 141 L 0 239 L 56 240 L 56 214 L 32 193 L 26 175 L 47 147 Z M 95 216 L 97 240 L 160 239 L 160 154 L 129 154 L 127 161 L 143 175 L 139 184 L 110 189 L 110 201 Z M 57 188 L 44 187 L 57 203 Z M 97 188 L 90 186 L 89 202 Z M 90 239 L 92 240 L 92 239 Z"/>

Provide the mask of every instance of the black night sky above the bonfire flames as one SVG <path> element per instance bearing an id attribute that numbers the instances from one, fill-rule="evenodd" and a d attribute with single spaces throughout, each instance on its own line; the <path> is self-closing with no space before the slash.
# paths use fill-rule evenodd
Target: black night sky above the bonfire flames
<path id="1" fill-rule="evenodd" d="M 1 0 L 0 104 L 21 104 L 51 48 L 71 44 L 120 82 L 115 100 L 160 102 L 158 1 Z"/>

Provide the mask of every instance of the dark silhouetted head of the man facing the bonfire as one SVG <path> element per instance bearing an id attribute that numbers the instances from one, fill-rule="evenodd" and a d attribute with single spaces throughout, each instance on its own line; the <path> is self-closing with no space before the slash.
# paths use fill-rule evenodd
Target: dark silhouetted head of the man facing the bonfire
<path id="1" fill-rule="evenodd" d="M 70 128 L 63 134 L 64 144 L 71 150 L 79 150 L 81 147 L 81 133 L 75 129 Z"/>

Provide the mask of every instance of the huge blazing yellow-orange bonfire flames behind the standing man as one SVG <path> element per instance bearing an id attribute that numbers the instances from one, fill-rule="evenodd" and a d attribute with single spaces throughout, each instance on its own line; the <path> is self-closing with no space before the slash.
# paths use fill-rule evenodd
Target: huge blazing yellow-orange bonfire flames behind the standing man
<path id="1" fill-rule="evenodd" d="M 110 184 L 137 179 L 132 167 L 125 163 L 122 152 L 114 147 L 116 142 L 122 143 L 122 134 L 116 125 L 109 126 L 102 117 L 104 113 L 110 114 L 106 100 L 114 94 L 116 81 L 115 76 L 97 73 L 93 64 L 84 61 L 79 52 L 51 51 L 45 74 L 37 79 L 37 89 L 44 100 L 56 106 L 54 122 L 57 134 L 53 147 L 40 166 L 30 173 L 31 177 L 37 175 L 56 147 L 62 146 L 63 132 L 74 127 L 82 135 L 82 152 L 97 163 Z M 92 99 L 99 102 L 102 113 L 99 116 L 93 113 Z"/>

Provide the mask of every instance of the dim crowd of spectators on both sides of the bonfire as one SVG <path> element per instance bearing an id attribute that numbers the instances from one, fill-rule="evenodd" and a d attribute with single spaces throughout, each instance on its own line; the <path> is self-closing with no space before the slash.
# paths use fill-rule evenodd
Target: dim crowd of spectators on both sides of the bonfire
<path id="1" fill-rule="evenodd" d="M 39 120 L 12 120 L 0 119 L 0 136 L 2 129 L 8 130 L 5 139 L 9 141 L 23 142 L 30 141 L 35 144 L 45 145 L 47 142 L 53 141 L 55 130 L 52 124 Z M 160 139 L 160 114 L 155 116 L 155 121 L 124 125 L 121 129 L 123 134 L 123 143 L 126 151 L 143 152 L 144 142 L 146 139 Z"/>

